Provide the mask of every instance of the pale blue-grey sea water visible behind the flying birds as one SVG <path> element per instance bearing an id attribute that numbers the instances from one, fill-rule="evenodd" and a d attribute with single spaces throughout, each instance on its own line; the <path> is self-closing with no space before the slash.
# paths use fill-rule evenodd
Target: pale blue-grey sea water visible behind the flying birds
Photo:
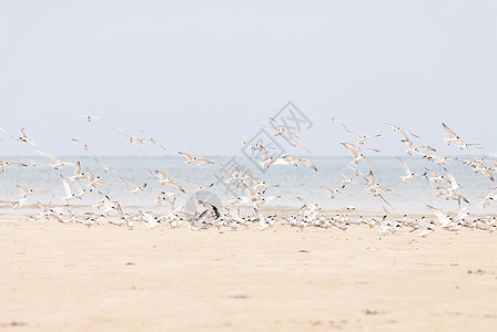
<path id="1" fill-rule="evenodd" d="M 199 167 L 196 165 L 185 164 L 185 159 L 181 156 L 100 157 L 100 160 L 136 185 L 146 183 L 144 190 L 136 195 L 130 194 L 132 190 L 130 184 L 118 179 L 112 174 L 105 174 L 102 166 L 91 157 L 73 156 L 61 159 L 63 162 L 79 160 L 83 166 L 83 172 L 88 167 L 95 176 L 100 176 L 102 180 L 109 184 L 109 186 L 98 186 L 98 190 L 106 194 L 112 200 L 116 200 L 123 207 L 130 209 L 152 208 L 158 205 L 154 200 L 161 191 L 171 191 L 159 183 L 159 179 L 151 174 L 151 170 L 165 173 L 168 177 L 178 181 L 186 190 L 185 194 L 178 196 L 176 206 L 182 204 L 190 205 L 192 201 L 194 204 L 199 197 L 214 205 L 226 205 L 232 198 L 235 187 L 225 183 L 229 176 L 220 164 L 229 167 L 237 165 L 241 169 L 244 169 L 260 180 L 277 186 L 268 187 L 265 194 L 266 197 L 281 196 L 267 204 L 271 207 L 298 208 L 302 206 L 302 203 L 296 197 L 300 196 L 313 204 L 317 204 L 325 210 L 345 210 L 346 207 L 353 207 L 356 211 L 382 212 L 385 206 L 395 214 L 429 214 L 430 211 L 426 205 L 432 205 L 444 211 L 457 211 L 459 208 L 458 203 L 455 200 L 435 197 L 427 179 L 423 176 L 415 177 L 410 184 L 404 183 L 400 176 L 405 175 L 405 170 L 397 157 L 372 157 L 372 163 L 361 162 L 357 167 L 364 175 L 367 175 L 372 170 L 376 177 L 376 181 L 390 189 L 390 191 L 385 191 L 383 195 L 392 207 L 386 205 L 381 198 L 373 197 L 366 190 L 365 179 L 361 177 L 355 177 L 359 184 L 347 185 L 345 188 L 341 188 L 341 193 L 335 198 L 328 198 L 328 194 L 321 186 L 332 189 L 339 188 L 343 177 L 338 173 L 338 169 L 354 177 L 354 172 L 347 168 L 347 166 L 353 166 L 349 164 L 349 157 L 311 156 L 310 159 L 317 167 L 317 172 L 314 172 L 305 165 L 300 165 L 298 167 L 280 165 L 262 168 L 256 160 L 246 156 L 205 157 L 215 160 L 215 163 L 205 167 Z M 40 156 L 32 157 L 32 159 L 47 162 L 47 158 Z M 37 201 L 43 204 L 52 201 L 53 205 L 62 204 L 61 197 L 64 196 L 64 188 L 60 175 L 67 178 L 70 177 L 73 167 L 64 166 L 57 170 L 49 167 L 33 167 L 22 157 L 3 157 L 2 160 L 27 163 L 29 167 L 7 167 L 0 174 L 0 199 L 17 200 L 21 194 L 16 187 L 17 185 L 42 191 L 31 195 L 26 206 L 18 211 L 11 211 L 10 206 L 3 205 L 1 208 L 2 214 L 26 214 L 36 209 L 34 204 Z M 407 163 L 410 170 L 415 174 L 424 173 L 425 167 L 436 170 L 439 174 L 445 174 L 444 167 L 425 160 L 419 156 L 405 156 L 403 160 Z M 486 208 L 478 206 L 496 186 L 491 180 L 483 174 L 476 174 L 469 166 L 463 165 L 460 162 L 452 160 L 445 167 L 447 167 L 462 186 L 458 193 L 470 201 L 469 210 L 473 214 L 490 215 L 497 212 L 497 204 L 489 205 Z M 202 187 L 210 184 L 214 185 L 201 194 L 194 195 L 195 187 L 186 180 Z M 84 186 L 84 183 L 81 183 L 81 185 Z M 98 190 L 89 193 L 81 200 L 72 199 L 70 204 L 91 210 L 91 205 L 94 205 L 100 198 Z M 246 195 L 245 193 L 242 194 L 241 190 L 237 193 L 239 195 Z"/>

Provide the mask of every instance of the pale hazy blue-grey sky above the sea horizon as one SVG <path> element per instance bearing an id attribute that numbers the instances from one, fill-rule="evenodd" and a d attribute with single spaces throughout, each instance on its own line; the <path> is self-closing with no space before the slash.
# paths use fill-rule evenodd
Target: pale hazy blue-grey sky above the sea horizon
<path id="1" fill-rule="evenodd" d="M 114 127 L 171 154 L 231 155 L 233 128 L 252 136 L 292 101 L 315 155 L 355 139 L 318 110 L 382 133 L 385 154 L 404 151 L 385 122 L 450 154 L 445 122 L 496 154 L 496 18 L 497 1 L 0 0 L 0 126 L 57 155 L 84 153 L 72 137 L 139 154 Z M 0 142 L 0 155 L 27 153 Z"/>

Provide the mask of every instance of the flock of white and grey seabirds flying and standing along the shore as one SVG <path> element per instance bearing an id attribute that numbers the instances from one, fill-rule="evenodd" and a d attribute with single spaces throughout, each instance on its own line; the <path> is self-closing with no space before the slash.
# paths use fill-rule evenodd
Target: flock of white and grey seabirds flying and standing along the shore
<path id="1" fill-rule="evenodd" d="M 94 121 L 102 121 L 95 116 L 89 115 L 77 115 L 83 117 L 88 123 Z M 392 205 L 385 197 L 386 193 L 390 191 L 389 188 L 381 185 L 376 179 L 373 170 L 364 174 L 358 168 L 359 163 L 372 163 L 368 157 L 369 154 L 379 153 L 377 148 L 365 146 L 366 142 L 379 137 L 377 135 L 361 135 L 349 131 L 341 121 L 335 116 L 329 115 L 329 118 L 334 123 L 338 123 L 349 134 L 357 137 L 355 143 L 341 143 L 341 145 L 351 154 L 352 159 L 348 170 L 352 170 L 352 175 L 347 175 L 344 169 L 338 169 L 338 173 L 343 177 L 341 185 L 337 188 L 328 188 L 322 186 L 321 188 L 326 191 L 327 197 L 333 199 L 336 195 L 339 195 L 346 186 L 349 185 L 361 185 L 363 184 L 365 190 L 369 193 L 373 197 L 377 197 L 382 203 L 387 206 Z M 433 217 L 420 217 L 419 219 L 410 219 L 405 215 L 403 218 L 394 218 L 394 216 L 385 208 L 384 215 L 382 217 L 369 217 L 363 218 L 351 218 L 347 214 L 329 216 L 323 212 L 317 204 L 313 204 L 303 197 L 296 197 L 302 206 L 288 217 L 278 216 L 277 214 L 264 216 L 261 211 L 261 207 L 265 204 L 278 199 L 281 196 L 267 196 L 267 189 L 270 187 L 277 187 L 278 185 L 270 185 L 265 180 L 257 178 L 248 172 L 241 169 L 236 166 L 226 167 L 220 162 L 210 160 L 201 155 L 192 152 L 183 153 L 178 152 L 180 157 L 184 158 L 184 163 L 190 167 L 206 167 L 209 165 L 220 164 L 220 167 L 225 172 L 226 179 L 224 180 L 227 185 L 233 188 L 233 196 L 230 201 L 227 201 L 223 207 L 215 206 L 214 204 L 206 201 L 206 199 L 197 199 L 199 210 L 195 212 L 189 212 L 185 206 L 176 205 L 176 197 L 186 194 L 186 190 L 180 185 L 179 181 L 169 177 L 166 173 L 162 170 L 150 170 L 151 175 L 156 178 L 164 190 L 156 195 L 154 201 L 156 205 L 165 205 L 168 210 L 164 212 L 156 211 L 129 211 L 125 212 L 123 206 L 118 200 L 110 197 L 109 191 L 104 193 L 110 185 L 95 175 L 98 172 L 92 172 L 88 167 L 83 167 L 80 162 L 62 162 L 50 153 L 41 151 L 36 142 L 31 139 L 23 128 L 19 129 L 19 137 L 10 135 L 7 131 L 0 127 L 0 131 L 8 137 L 26 143 L 30 145 L 36 153 L 40 156 L 47 158 L 47 163 L 41 163 L 39 160 L 28 159 L 28 163 L 21 162 L 2 162 L 0 160 L 0 173 L 3 173 L 10 167 L 48 167 L 53 170 L 61 168 L 72 168 L 72 175 L 65 177 L 59 173 L 61 186 L 64 189 L 64 196 L 60 197 L 61 205 L 54 205 L 53 197 L 49 204 L 42 204 L 37 201 L 39 207 L 38 214 L 28 215 L 30 219 L 34 220 L 54 220 L 59 222 L 78 222 L 91 227 L 93 225 L 106 222 L 115 226 L 125 225 L 129 229 L 133 229 L 135 224 L 144 224 L 149 228 L 155 228 L 160 225 L 166 225 L 171 228 L 179 228 L 182 225 L 186 225 L 190 229 L 201 230 L 215 227 L 217 229 L 229 228 L 236 230 L 240 227 L 255 227 L 260 230 L 264 230 L 273 227 L 277 221 L 281 225 L 287 225 L 291 227 L 296 227 L 304 230 L 306 227 L 320 227 L 320 228 L 337 228 L 341 230 L 346 230 L 352 225 L 366 225 L 371 228 L 376 228 L 379 234 L 395 234 L 400 228 L 407 228 L 409 231 L 416 231 L 418 236 L 425 237 L 437 228 L 446 231 L 459 231 L 462 227 L 478 229 L 486 232 L 493 232 L 496 230 L 496 217 L 485 217 L 485 218 L 471 218 L 468 211 L 470 206 L 469 200 L 460 194 L 462 186 L 457 183 L 457 179 L 449 173 L 447 165 L 450 162 L 462 163 L 470 167 L 475 173 L 483 174 L 490 181 L 495 181 L 494 175 L 497 174 L 497 160 L 495 158 L 485 159 L 479 156 L 470 155 L 470 159 L 458 159 L 444 157 L 438 151 L 428 145 L 418 145 L 414 143 L 419 136 L 409 133 L 405 128 L 399 126 L 387 124 L 394 132 L 402 135 L 400 142 L 406 145 L 407 155 L 419 155 L 424 159 L 442 166 L 444 172 L 437 173 L 434 169 L 425 168 L 422 174 L 414 174 L 408 165 L 400 158 L 399 163 L 404 167 L 406 174 L 400 176 L 400 179 L 405 183 L 410 183 L 415 177 L 424 177 L 426 183 L 433 189 L 433 194 L 436 197 L 442 197 L 447 200 L 454 200 L 458 204 L 457 214 L 447 214 L 440 209 L 427 206 L 432 210 Z M 271 131 L 273 136 L 277 139 L 285 139 L 294 147 L 300 147 L 310 153 L 308 148 L 302 143 L 302 139 L 296 133 L 293 133 L 288 127 L 278 123 L 275 118 L 270 117 L 270 125 L 263 126 L 267 131 Z M 446 124 L 443 127 L 447 134 L 444 138 L 444 143 L 450 145 L 455 143 L 457 148 L 464 151 L 467 148 L 480 148 L 479 144 L 466 143 L 463 138 L 452 131 Z M 144 143 L 151 143 L 165 151 L 165 147 L 159 142 L 159 139 L 152 137 L 145 132 L 141 132 L 144 136 L 136 137 L 132 136 L 119 128 L 116 132 L 123 134 L 130 144 L 134 144 L 139 149 L 140 145 Z M 247 139 L 242 133 L 237 132 L 242 137 L 242 143 L 244 145 L 251 146 L 254 152 L 260 153 L 260 164 L 264 168 L 274 166 L 306 166 L 318 172 L 317 167 L 308 158 L 300 158 L 295 155 L 283 155 L 274 156 L 270 153 L 270 146 L 264 143 L 254 143 Z M 4 138 L 0 138 L 4 141 Z M 120 181 L 125 183 L 130 188 L 131 195 L 136 195 L 143 191 L 148 185 L 135 184 L 131 179 L 126 178 L 124 175 L 118 173 L 114 168 L 106 165 L 100 160 L 94 154 L 93 149 L 85 144 L 82 139 L 72 138 L 82 145 L 83 149 L 91 153 L 93 159 L 102 167 L 102 172 L 109 176 L 114 176 Z M 432 167 L 433 168 L 433 167 Z M 194 189 L 191 194 L 194 197 L 206 188 L 212 187 L 214 184 L 209 184 L 205 186 L 199 186 L 190 180 L 187 181 Z M 24 188 L 17 185 L 19 189 L 18 197 L 11 197 L 10 199 L 0 199 L 0 207 L 10 207 L 12 210 L 20 210 L 26 206 L 26 203 L 30 197 L 42 193 L 33 188 Z M 92 205 L 92 211 L 84 211 L 82 214 L 77 214 L 77 205 L 73 201 L 81 200 L 84 196 L 95 195 L 98 193 L 98 200 Z M 478 206 L 484 208 L 493 204 L 497 199 L 497 188 L 493 189 L 479 204 Z M 242 215 L 242 209 L 250 209 L 251 214 L 245 216 Z"/>

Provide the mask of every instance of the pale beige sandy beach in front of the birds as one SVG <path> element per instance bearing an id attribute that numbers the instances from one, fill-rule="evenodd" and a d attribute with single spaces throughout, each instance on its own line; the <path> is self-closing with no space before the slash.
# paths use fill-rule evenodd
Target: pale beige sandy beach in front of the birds
<path id="1" fill-rule="evenodd" d="M 0 222 L 0 331 L 497 331 L 497 234 Z"/>

